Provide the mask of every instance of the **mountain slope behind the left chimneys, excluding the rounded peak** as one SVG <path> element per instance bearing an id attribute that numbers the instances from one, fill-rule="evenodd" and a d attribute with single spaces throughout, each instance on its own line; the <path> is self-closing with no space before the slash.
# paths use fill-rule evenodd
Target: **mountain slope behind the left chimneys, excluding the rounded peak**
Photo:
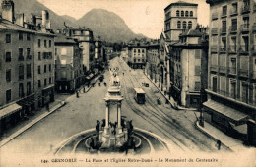
<path id="1" fill-rule="evenodd" d="M 1 1 L 1 0 L 0 0 Z M 70 18 L 61 17 L 45 7 L 43 4 L 36 0 L 13 0 L 15 3 L 15 13 L 24 13 L 25 16 L 30 16 L 31 14 L 41 15 L 42 10 L 48 10 L 51 20 L 51 26 L 53 29 L 63 28 L 63 23 L 67 25 L 72 25 L 76 27 L 74 22 L 70 21 Z M 2 1 L 1 1 L 2 2 Z"/>

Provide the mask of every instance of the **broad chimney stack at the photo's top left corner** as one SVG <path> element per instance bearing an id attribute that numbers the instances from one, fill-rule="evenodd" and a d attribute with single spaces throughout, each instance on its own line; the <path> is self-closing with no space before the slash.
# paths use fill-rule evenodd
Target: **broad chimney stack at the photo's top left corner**
<path id="1" fill-rule="evenodd" d="M 2 17 L 12 23 L 14 23 L 14 2 L 13 0 L 2 1 Z"/>

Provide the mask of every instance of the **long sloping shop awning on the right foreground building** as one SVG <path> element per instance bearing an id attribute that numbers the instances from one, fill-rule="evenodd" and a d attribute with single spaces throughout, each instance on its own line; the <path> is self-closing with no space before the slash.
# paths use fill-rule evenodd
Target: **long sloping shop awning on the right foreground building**
<path id="1" fill-rule="evenodd" d="M 204 106 L 224 115 L 225 117 L 228 117 L 230 120 L 237 122 L 245 121 L 248 115 L 234 109 L 231 107 L 228 107 L 222 103 L 210 100 L 205 103 L 203 103 Z"/>

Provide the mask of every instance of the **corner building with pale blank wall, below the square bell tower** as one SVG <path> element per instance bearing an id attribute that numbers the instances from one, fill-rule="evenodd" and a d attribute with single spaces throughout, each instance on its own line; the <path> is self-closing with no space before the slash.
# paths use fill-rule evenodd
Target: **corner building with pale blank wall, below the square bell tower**
<path id="1" fill-rule="evenodd" d="M 199 107 L 207 87 L 208 41 L 199 29 L 185 30 L 180 41 L 169 46 L 171 94 L 179 105 Z"/>

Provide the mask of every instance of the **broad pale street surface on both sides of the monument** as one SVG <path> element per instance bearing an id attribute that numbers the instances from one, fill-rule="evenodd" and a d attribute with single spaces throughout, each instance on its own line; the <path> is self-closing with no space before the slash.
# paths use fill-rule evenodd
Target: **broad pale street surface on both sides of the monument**
<path id="1" fill-rule="evenodd" d="M 144 129 L 167 140 L 175 151 L 216 152 L 216 142 L 202 134 L 195 127 L 196 116 L 193 111 L 175 110 L 161 96 L 157 88 L 147 79 L 142 70 L 131 70 L 119 58 L 110 62 L 110 67 L 119 68 L 122 103 L 121 112 L 126 120 L 133 120 L 134 127 Z M 123 73 L 124 72 L 124 75 Z M 109 72 L 104 74 L 104 82 L 109 83 Z M 133 88 L 142 87 L 141 83 L 149 83 L 143 87 L 146 92 L 146 103 L 139 105 L 133 98 Z M 102 120 L 105 114 L 104 95 L 107 86 L 96 83 L 89 92 L 77 98 L 70 96 L 66 106 L 58 109 L 31 129 L 1 148 L 1 156 L 10 154 L 19 156 L 47 155 L 54 146 L 65 139 L 96 127 L 96 120 Z M 161 98 L 161 105 L 157 99 Z M 199 113 L 196 113 L 199 115 Z M 222 149 L 221 149 L 222 151 Z"/>

